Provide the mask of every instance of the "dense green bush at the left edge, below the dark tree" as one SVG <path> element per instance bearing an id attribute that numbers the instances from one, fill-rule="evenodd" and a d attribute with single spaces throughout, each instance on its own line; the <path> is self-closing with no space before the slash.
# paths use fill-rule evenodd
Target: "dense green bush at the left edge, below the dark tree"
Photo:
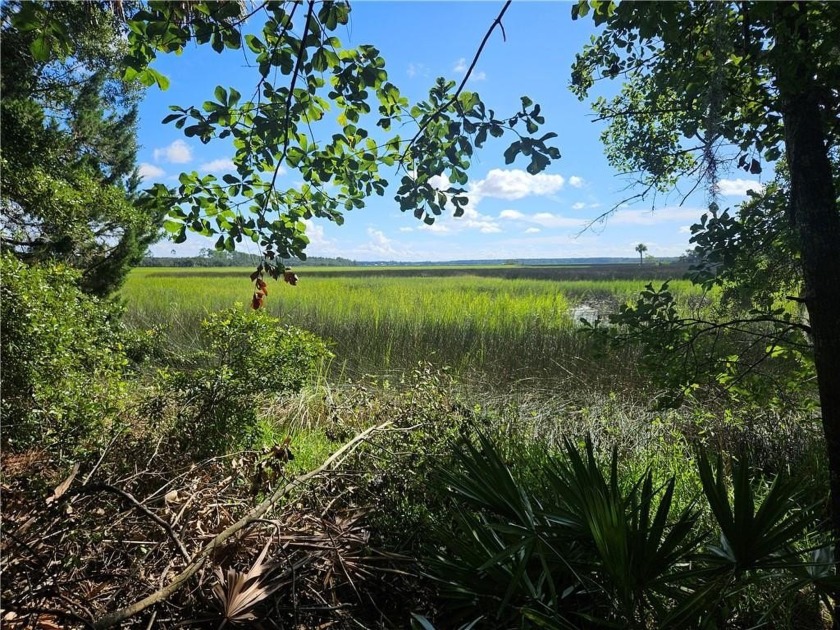
<path id="1" fill-rule="evenodd" d="M 119 310 L 82 293 L 64 265 L 0 256 L 3 446 L 95 448 L 121 411 Z"/>

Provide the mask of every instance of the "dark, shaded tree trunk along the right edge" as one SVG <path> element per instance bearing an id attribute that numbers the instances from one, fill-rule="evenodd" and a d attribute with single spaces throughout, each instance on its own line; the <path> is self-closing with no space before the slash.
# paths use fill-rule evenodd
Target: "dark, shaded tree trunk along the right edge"
<path id="1" fill-rule="evenodd" d="M 840 567 L 840 213 L 828 157 L 818 86 L 809 69 L 808 33 L 788 11 L 777 45 L 793 55 L 794 72 L 777 76 L 782 99 L 785 151 L 790 168 L 790 216 L 799 237 L 805 304 L 814 343 L 814 364 L 828 450 L 834 559 Z M 794 52 L 796 51 L 796 52 Z M 790 68 L 790 66 L 789 66 Z M 840 593 L 834 593 L 834 627 L 840 627 Z"/>

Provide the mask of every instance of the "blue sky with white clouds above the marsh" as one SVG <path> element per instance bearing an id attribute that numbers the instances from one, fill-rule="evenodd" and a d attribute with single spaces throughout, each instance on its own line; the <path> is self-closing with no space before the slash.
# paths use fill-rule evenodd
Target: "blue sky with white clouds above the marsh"
<path id="1" fill-rule="evenodd" d="M 422 98 L 435 78 L 463 78 L 501 2 L 373 2 L 353 3 L 351 22 L 338 35 L 346 46 L 373 44 L 386 59 L 389 78 L 409 99 Z M 525 172 L 527 162 L 505 166 L 506 139 L 488 143 L 470 171 L 470 205 L 461 218 L 444 217 L 424 226 L 399 211 L 393 190 L 372 197 L 364 209 L 348 213 L 342 226 L 327 221 L 308 225 L 311 256 L 343 256 L 355 260 L 455 260 L 496 258 L 574 258 L 635 256 L 643 242 L 653 256 L 676 256 L 689 246 L 688 227 L 699 219 L 706 200 L 702 192 L 682 205 L 674 193 L 620 207 L 605 223 L 582 231 L 587 223 L 632 194 L 628 180 L 616 174 L 604 157 L 589 105 L 568 90 L 575 53 L 595 33 L 588 20 L 573 22 L 566 2 L 518 0 L 503 20 L 506 40 L 497 29 L 491 36 L 467 89 L 478 92 L 500 114 L 520 107 L 528 95 L 542 106 L 546 131 L 558 134 L 562 158 L 537 175 Z M 259 25 L 252 19 L 250 28 Z M 183 171 L 232 171 L 233 150 L 226 142 L 202 145 L 185 138 L 161 120 L 169 105 L 200 105 L 213 98 L 217 85 L 236 86 L 243 94 L 256 85 L 255 68 L 242 51 L 219 55 L 209 46 L 191 47 L 180 57 L 155 62 L 170 88 L 148 90 L 140 107 L 138 161 L 146 183 L 174 185 Z M 607 89 L 616 89 L 613 85 Z M 723 205 L 734 205 L 757 179 L 743 172 L 723 174 Z M 285 172 L 284 187 L 299 176 Z M 212 241 L 192 235 L 186 243 L 161 242 L 153 255 L 193 255 Z M 258 253 L 243 243 L 243 251 Z"/>

